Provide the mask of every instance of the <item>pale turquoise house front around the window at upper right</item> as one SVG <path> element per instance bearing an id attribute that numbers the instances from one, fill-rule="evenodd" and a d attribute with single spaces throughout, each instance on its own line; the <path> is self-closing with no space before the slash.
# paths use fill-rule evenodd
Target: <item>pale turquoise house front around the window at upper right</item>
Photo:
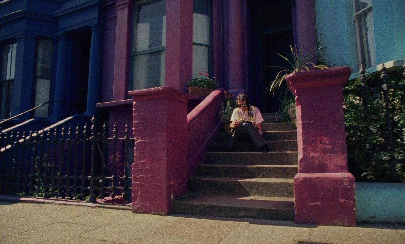
<path id="1" fill-rule="evenodd" d="M 405 59 L 405 1 L 372 0 L 375 64 Z M 352 0 L 315 0 L 318 44 L 322 59 L 333 66 L 347 65 L 354 73 L 357 60 Z M 373 72 L 376 67 L 367 71 Z"/>

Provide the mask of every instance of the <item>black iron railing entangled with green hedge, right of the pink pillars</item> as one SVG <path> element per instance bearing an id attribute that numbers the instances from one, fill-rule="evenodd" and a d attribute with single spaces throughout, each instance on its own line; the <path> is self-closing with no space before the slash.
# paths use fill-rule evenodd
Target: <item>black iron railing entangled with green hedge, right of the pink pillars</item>
<path id="1" fill-rule="evenodd" d="M 394 84 L 390 82 L 384 63 L 382 63 L 381 75 L 379 76 L 381 81 L 380 86 L 375 85 L 377 81 L 372 80 L 371 76 L 366 76 L 362 65 L 360 74 L 359 80 L 361 84 L 358 84 L 358 86 L 354 88 L 344 90 L 346 95 L 352 95 L 350 99 L 362 105 L 359 111 L 351 111 L 352 113 L 358 113 L 359 116 L 363 116 L 362 128 L 364 128 L 367 136 L 365 140 L 363 140 L 365 145 L 359 146 L 365 147 L 367 154 L 365 157 L 366 166 L 371 164 L 388 164 L 392 181 L 397 182 L 399 181 L 397 164 L 404 163 L 405 152 L 401 155 L 401 150 L 405 149 L 405 143 L 403 142 L 405 138 L 404 140 L 399 138 L 401 135 L 398 133 L 398 126 L 404 125 L 395 122 L 393 117 L 397 117 L 397 114 L 393 116 L 393 113 L 399 113 L 401 109 L 402 112 L 405 111 L 405 104 L 401 105 L 405 99 L 403 93 L 400 97 L 393 97 L 393 91 L 405 90 L 405 84 Z M 403 65 L 402 76 L 405 77 L 405 65 Z M 399 104 L 399 107 L 393 107 L 392 99 L 396 99 L 396 103 L 397 105 Z M 378 105 L 376 106 L 376 104 Z M 376 122 L 377 120 L 380 121 L 379 125 L 378 122 Z M 397 126 L 397 128 L 394 131 L 395 126 Z M 356 135 L 352 135 L 353 133 L 360 134 L 356 131 L 347 131 L 348 136 L 351 138 L 356 137 Z M 360 138 L 360 136 L 358 136 L 358 138 Z M 351 150 L 354 149 L 350 147 L 350 145 L 348 145 L 347 150 L 348 154 L 356 154 L 354 151 L 351 152 Z"/>

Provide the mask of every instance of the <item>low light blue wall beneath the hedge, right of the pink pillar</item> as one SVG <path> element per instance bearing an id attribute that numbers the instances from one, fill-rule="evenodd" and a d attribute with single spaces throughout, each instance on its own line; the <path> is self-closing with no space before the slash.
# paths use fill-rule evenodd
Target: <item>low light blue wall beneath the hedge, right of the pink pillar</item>
<path id="1" fill-rule="evenodd" d="M 356 219 L 405 223 L 405 184 L 356 182 Z"/>

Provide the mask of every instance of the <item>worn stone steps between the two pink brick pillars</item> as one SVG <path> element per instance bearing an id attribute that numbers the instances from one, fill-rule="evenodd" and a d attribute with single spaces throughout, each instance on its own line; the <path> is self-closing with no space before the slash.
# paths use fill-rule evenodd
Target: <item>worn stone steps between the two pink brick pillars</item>
<path id="1" fill-rule="evenodd" d="M 173 200 L 173 213 L 293 221 L 297 134 L 279 114 L 262 114 L 269 152 L 257 151 L 251 141 L 238 141 L 227 152 L 230 134 L 221 133 L 188 179 L 188 194 Z"/>

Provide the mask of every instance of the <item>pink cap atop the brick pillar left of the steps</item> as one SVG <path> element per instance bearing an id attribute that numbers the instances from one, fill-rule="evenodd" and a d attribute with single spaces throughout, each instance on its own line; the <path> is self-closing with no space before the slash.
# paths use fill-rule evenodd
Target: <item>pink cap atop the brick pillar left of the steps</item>
<path id="1" fill-rule="evenodd" d="M 190 95 L 183 93 L 170 86 L 160 86 L 142 90 L 132 90 L 128 92 L 128 95 L 132 96 L 134 101 L 141 101 L 147 99 L 156 99 L 161 97 L 171 97 L 172 99 L 179 100 L 187 103 L 190 99 Z"/>

